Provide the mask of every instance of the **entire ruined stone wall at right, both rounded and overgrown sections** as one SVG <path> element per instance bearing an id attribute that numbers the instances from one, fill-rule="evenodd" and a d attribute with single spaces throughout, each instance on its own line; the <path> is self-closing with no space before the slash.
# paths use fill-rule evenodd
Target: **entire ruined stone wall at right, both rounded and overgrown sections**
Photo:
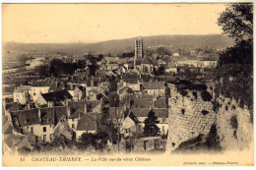
<path id="1" fill-rule="evenodd" d="M 171 96 L 168 98 L 166 150 L 173 150 L 199 134 L 208 135 L 213 124 L 216 124 L 222 150 L 242 150 L 251 146 L 253 124 L 246 106 L 241 108 L 236 101 L 224 96 L 218 97 L 217 102 L 204 101 L 201 91 L 197 91 L 197 98 L 192 94 L 194 90 L 186 90 L 188 93 L 182 96 L 175 85 L 168 86 Z M 207 90 L 211 93 L 211 89 Z"/>

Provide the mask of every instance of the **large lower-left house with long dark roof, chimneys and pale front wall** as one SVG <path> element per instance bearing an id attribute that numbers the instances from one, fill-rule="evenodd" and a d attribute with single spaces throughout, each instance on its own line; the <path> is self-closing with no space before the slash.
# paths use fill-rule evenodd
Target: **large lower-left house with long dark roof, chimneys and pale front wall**
<path id="1" fill-rule="evenodd" d="M 65 122 L 67 107 L 37 108 L 11 112 L 12 123 L 16 132 L 34 136 L 37 142 L 52 142 L 55 128 Z"/>

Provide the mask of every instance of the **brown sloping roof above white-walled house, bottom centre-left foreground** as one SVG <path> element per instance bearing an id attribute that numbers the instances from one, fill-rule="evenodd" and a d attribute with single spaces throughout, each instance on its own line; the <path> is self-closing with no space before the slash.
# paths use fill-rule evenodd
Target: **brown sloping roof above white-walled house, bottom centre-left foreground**
<path id="1" fill-rule="evenodd" d="M 77 131 L 96 131 L 96 115 L 84 115 L 78 121 Z"/>

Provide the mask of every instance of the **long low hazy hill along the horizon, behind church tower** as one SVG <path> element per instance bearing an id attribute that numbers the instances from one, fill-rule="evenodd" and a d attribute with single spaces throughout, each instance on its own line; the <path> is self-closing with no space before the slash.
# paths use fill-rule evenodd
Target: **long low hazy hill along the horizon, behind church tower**
<path id="1" fill-rule="evenodd" d="M 65 53 L 81 55 L 88 52 L 116 55 L 124 51 L 134 50 L 134 38 L 108 40 L 96 43 L 16 43 L 9 42 L 3 45 L 4 54 L 7 51 L 15 54 L 28 52 Z M 144 36 L 144 48 L 149 46 L 171 46 L 177 48 L 226 48 L 234 45 L 234 41 L 223 34 L 211 35 L 157 35 Z M 3 55 L 7 57 L 8 55 Z"/>

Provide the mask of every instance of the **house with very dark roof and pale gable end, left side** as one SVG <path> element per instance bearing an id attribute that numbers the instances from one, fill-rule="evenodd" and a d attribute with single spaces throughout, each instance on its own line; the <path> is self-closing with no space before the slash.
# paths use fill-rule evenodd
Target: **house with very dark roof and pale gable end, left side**
<path id="1" fill-rule="evenodd" d="M 67 89 L 63 89 L 40 94 L 35 102 L 37 105 L 65 105 L 65 102 L 71 99 L 72 95 L 69 93 L 69 91 Z"/>

